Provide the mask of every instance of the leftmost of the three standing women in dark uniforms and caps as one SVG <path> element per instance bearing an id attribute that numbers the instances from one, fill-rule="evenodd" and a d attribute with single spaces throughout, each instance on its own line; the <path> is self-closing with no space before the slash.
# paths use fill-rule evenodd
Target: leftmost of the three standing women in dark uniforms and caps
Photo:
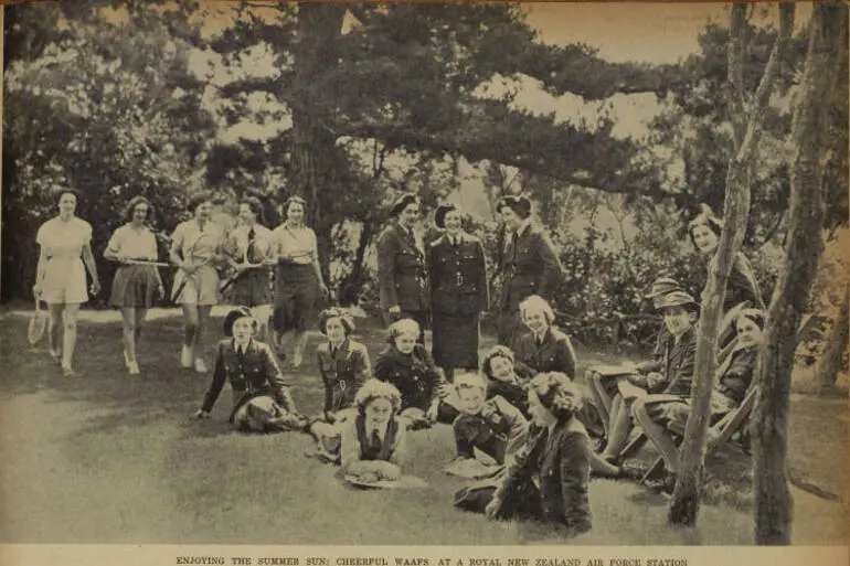
<path id="1" fill-rule="evenodd" d="M 414 226 L 422 215 L 419 197 L 401 196 L 392 209 L 392 222 L 378 241 L 378 281 L 386 323 L 413 319 L 419 325 L 418 342 L 425 342 L 428 318 L 428 285 L 422 238 Z"/>

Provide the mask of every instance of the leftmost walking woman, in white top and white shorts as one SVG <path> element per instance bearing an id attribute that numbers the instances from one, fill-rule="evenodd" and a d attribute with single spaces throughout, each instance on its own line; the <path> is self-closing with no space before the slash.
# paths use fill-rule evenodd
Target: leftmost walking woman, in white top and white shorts
<path id="1" fill-rule="evenodd" d="M 75 215 L 78 200 L 76 191 L 61 189 L 59 216 L 42 224 L 35 236 L 39 265 L 32 291 L 50 309 L 50 355 L 62 363 L 65 376 L 74 375 L 71 363 L 77 340 L 77 316 L 79 305 L 88 300 L 86 269 L 92 277 L 92 295 L 100 292 L 100 280 L 92 255 L 92 225 Z M 60 346 L 57 334 L 63 329 Z"/>

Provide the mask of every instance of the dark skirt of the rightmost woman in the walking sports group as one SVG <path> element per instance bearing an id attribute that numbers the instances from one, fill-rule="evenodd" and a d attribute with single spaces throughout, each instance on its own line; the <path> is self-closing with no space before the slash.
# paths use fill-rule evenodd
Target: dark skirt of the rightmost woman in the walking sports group
<path id="1" fill-rule="evenodd" d="M 274 328 L 277 332 L 307 330 L 319 284 L 311 264 L 278 264 L 275 268 Z"/>

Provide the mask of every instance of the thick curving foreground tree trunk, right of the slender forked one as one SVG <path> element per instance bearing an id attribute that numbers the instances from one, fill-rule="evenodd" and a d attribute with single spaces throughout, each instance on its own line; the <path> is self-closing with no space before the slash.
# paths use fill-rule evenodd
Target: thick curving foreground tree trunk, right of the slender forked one
<path id="1" fill-rule="evenodd" d="M 821 167 L 827 139 L 824 100 L 846 72 L 836 63 L 837 39 L 847 25 L 847 8 L 817 2 L 809 24 L 809 47 L 796 95 L 791 126 L 794 160 L 789 231 L 785 261 L 774 290 L 759 356 L 756 384 L 761 395 L 753 418 L 755 542 L 790 544 L 793 499 L 786 464 L 788 413 L 797 328 L 822 249 L 825 203 Z"/>

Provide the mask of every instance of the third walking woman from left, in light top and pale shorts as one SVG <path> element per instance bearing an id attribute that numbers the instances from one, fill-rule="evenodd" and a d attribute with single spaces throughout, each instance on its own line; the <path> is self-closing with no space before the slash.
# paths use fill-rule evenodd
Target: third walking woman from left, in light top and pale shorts
<path id="1" fill-rule="evenodd" d="M 178 267 L 171 299 L 183 308 L 183 348 L 180 365 L 206 373 L 201 337 L 210 310 L 219 302 L 216 264 L 223 259 L 224 228 L 212 221 L 209 194 L 189 201 L 194 217 L 178 224 L 171 235 L 171 263 Z"/>

